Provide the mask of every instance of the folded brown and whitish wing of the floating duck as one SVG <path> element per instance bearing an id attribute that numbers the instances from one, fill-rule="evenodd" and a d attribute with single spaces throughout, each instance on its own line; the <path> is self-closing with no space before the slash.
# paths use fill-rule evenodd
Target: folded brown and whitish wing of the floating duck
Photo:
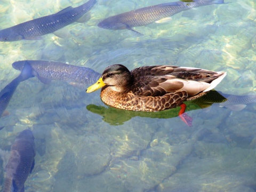
<path id="1" fill-rule="evenodd" d="M 210 91 L 226 75 L 223 72 L 177 66 L 140 67 L 131 73 L 134 76 L 131 87 L 133 94 L 152 97 L 182 90 L 188 93 L 188 97 L 193 97 Z"/>

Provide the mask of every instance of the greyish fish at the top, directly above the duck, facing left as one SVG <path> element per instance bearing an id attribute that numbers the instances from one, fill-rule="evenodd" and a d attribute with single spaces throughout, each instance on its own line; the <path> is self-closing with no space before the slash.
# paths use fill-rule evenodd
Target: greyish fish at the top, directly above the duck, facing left
<path id="1" fill-rule="evenodd" d="M 223 3 L 223 0 L 194 0 L 147 6 L 106 18 L 98 23 L 98 27 L 111 30 L 129 29 L 141 36 L 143 34 L 133 30 L 132 27 L 145 26 L 152 22 L 166 22 L 172 15 L 193 7 Z"/>

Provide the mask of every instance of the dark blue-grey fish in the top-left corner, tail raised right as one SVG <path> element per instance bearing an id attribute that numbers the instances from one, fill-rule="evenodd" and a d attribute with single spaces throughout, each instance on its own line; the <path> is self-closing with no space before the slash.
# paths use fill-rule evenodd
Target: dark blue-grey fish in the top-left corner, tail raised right
<path id="1" fill-rule="evenodd" d="M 21 39 L 37 40 L 42 39 L 41 36 L 43 35 L 54 32 L 54 34 L 59 37 L 65 37 L 66 35 L 58 30 L 73 22 L 84 22 L 88 18 L 85 13 L 90 11 L 96 2 L 96 0 L 89 0 L 78 7 L 73 8 L 69 6 L 58 13 L 0 30 L 0 41 L 13 42 L 20 41 Z M 83 15 L 85 16 L 83 17 Z"/>

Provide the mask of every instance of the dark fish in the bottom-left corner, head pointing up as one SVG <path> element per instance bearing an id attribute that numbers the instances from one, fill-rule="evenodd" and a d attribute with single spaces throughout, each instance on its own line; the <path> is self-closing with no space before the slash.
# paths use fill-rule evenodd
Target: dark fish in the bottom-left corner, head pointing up
<path id="1" fill-rule="evenodd" d="M 35 141 L 30 130 L 20 132 L 11 147 L 6 164 L 4 192 L 25 191 L 24 184 L 35 165 Z"/>

